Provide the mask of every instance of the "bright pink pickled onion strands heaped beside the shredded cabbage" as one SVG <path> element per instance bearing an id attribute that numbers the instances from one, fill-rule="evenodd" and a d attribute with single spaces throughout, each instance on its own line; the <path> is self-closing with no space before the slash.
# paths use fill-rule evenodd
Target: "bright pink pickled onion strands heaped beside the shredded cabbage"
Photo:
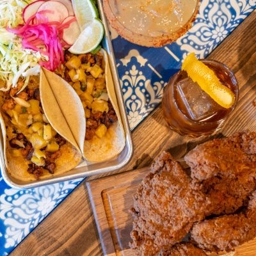
<path id="1" fill-rule="evenodd" d="M 16 29 L 8 29 L 22 38 L 22 47 L 40 52 L 48 57 L 39 64 L 48 70 L 54 71 L 64 62 L 64 47 L 70 47 L 63 40 L 63 29 L 68 28 L 76 18 L 65 23 L 47 22 L 43 13 L 51 12 L 44 10 L 31 16 L 23 26 Z M 32 22 L 31 22 L 32 21 Z M 30 24 L 32 23 L 32 24 Z"/>

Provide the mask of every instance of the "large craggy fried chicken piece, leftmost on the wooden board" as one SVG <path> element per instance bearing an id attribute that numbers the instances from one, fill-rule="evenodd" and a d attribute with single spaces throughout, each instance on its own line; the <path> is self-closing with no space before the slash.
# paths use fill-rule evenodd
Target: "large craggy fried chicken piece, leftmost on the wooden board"
<path id="1" fill-rule="evenodd" d="M 207 200 L 191 188 L 191 179 L 168 152 L 163 152 L 134 195 L 131 248 L 158 255 L 179 243 L 195 221 L 204 219 Z"/>

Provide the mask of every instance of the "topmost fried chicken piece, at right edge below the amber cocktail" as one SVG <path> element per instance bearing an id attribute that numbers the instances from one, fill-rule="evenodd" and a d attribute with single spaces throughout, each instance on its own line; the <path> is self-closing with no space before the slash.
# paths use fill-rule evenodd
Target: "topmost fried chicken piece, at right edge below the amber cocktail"
<path id="1" fill-rule="evenodd" d="M 228 138 L 198 145 L 185 157 L 191 177 L 236 177 L 246 170 L 256 171 L 256 132 L 239 132 Z"/>

